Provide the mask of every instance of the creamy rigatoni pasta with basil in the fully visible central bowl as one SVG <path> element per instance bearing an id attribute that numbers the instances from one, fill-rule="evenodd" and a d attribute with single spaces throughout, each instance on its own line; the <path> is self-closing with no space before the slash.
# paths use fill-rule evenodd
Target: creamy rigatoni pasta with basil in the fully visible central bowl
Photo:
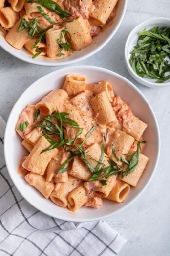
<path id="1" fill-rule="evenodd" d="M 16 131 L 28 152 L 18 174 L 71 211 L 97 209 L 103 199 L 123 203 L 149 161 L 142 154 L 146 127 L 109 81 L 88 84 L 69 74 L 62 89 L 20 114 Z"/>

